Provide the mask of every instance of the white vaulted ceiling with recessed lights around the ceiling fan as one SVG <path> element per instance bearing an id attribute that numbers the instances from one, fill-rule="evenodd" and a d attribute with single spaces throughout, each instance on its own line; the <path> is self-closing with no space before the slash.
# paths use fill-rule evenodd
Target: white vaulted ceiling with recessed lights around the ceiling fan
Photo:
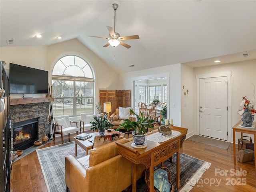
<path id="1" fill-rule="evenodd" d="M 114 2 L 119 5 L 116 32 L 140 37 L 124 40 L 129 49 L 104 48 L 108 40 L 89 37 L 108 37 Z M 251 60 L 256 58 L 256 1 L 0 0 L 0 46 L 47 46 L 74 38 L 118 73 Z"/>

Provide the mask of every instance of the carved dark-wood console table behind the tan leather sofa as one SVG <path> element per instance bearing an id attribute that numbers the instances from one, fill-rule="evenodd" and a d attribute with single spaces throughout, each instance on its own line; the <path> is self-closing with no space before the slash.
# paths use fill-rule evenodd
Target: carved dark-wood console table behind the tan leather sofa
<path id="1" fill-rule="evenodd" d="M 144 164 L 149 168 L 149 180 L 154 180 L 154 166 L 162 164 L 164 160 L 177 153 L 176 158 L 176 186 L 180 188 L 180 147 L 186 138 L 188 129 L 173 126 L 172 130 L 179 131 L 181 134 L 165 142 L 152 142 L 146 139 L 147 147 L 144 149 L 133 148 L 132 142 L 118 143 L 118 154 L 132 162 L 132 191 L 136 192 L 136 164 Z M 150 182 L 150 192 L 154 191 L 154 182 Z"/>

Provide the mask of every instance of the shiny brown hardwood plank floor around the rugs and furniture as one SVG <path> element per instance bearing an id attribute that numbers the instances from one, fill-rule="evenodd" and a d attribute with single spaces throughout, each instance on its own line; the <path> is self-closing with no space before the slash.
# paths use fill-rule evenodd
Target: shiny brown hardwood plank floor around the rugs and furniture
<path id="1" fill-rule="evenodd" d="M 73 136 L 70 136 L 73 140 Z M 68 142 L 68 136 L 64 136 Z M 60 137 L 51 140 L 42 148 L 61 144 Z M 236 146 L 237 147 L 237 146 Z M 187 155 L 212 163 L 190 192 L 254 192 L 256 171 L 254 161 L 233 164 L 233 145 L 228 150 L 185 140 L 183 152 Z M 236 153 L 238 154 L 238 153 Z M 36 151 L 12 164 L 11 192 L 46 192 L 46 184 Z M 104 190 L 103 190 L 104 191 Z"/>

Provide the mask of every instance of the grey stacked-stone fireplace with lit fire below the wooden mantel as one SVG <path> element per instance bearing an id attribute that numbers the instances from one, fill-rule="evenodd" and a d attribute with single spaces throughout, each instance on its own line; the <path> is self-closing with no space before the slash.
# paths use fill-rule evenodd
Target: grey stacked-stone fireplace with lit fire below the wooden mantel
<path id="1" fill-rule="evenodd" d="M 27 126 L 24 127 L 25 131 L 30 133 L 30 136 L 32 136 L 31 134 L 36 134 L 35 136 L 36 140 L 41 140 L 44 134 L 48 133 L 48 126 L 46 125 L 46 116 L 49 115 L 49 102 L 16 104 L 16 103 L 12 103 L 11 101 L 10 114 L 11 114 L 11 122 L 12 122 L 11 136 L 12 136 L 13 143 L 15 142 L 15 138 L 17 134 L 19 133 L 16 131 L 14 132 L 15 127 L 17 127 L 16 126 L 17 124 L 18 124 L 18 127 L 21 127 L 19 125 L 22 124 L 22 122 L 25 122 L 25 124 L 26 122 L 29 122 L 29 121 L 32 121 L 32 124 L 36 122 L 34 123 L 34 125 L 32 125 L 31 128 L 28 128 Z M 31 131 L 35 126 L 37 127 L 37 130 L 35 131 L 36 133 L 35 132 L 32 133 Z"/>

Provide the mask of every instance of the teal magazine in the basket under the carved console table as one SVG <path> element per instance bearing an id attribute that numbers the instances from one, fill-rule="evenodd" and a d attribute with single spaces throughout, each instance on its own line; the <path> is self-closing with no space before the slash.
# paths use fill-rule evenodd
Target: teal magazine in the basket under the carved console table
<path id="1" fill-rule="evenodd" d="M 154 172 L 154 187 L 159 192 L 170 192 L 171 184 L 157 171 Z"/>

